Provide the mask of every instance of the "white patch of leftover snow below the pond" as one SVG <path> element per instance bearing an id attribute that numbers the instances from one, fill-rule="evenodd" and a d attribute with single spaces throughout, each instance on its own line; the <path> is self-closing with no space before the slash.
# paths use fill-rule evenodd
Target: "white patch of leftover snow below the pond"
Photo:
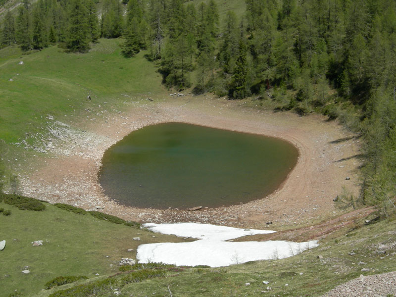
<path id="1" fill-rule="evenodd" d="M 219 267 L 247 261 L 282 259 L 318 246 L 317 241 L 226 242 L 241 236 L 275 232 L 269 230 L 238 229 L 198 223 L 148 223 L 144 226 L 157 233 L 193 237 L 198 240 L 190 243 L 140 245 L 136 255 L 139 263 L 163 262 L 178 266 Z"/>

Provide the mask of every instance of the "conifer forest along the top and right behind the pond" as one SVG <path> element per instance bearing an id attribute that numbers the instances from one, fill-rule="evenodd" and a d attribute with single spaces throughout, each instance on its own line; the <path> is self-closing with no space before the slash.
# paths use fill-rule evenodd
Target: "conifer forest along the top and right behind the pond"
<path id="1" fill-rule="evenodd" d="M 384 213 L 394 207 L 393 0 L 246 0 L 243 17 L 222 19 L 214 0 L 23 0 L 0 36 L 3 46 L 81 52 L 122 37 L 122 53 L 146 50 L 168 87 L 338 117 L 364 139 L 360 199 Z"/>

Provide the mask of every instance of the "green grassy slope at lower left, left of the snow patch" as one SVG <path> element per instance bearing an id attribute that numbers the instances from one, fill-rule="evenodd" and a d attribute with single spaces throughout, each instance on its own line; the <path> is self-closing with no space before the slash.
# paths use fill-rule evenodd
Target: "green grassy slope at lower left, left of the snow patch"
<path id="1" fill-rule="evenodd" d="M 0 297 L 14 290 L 23 296 L 44 289 L 44 284 L 58 276 L 85 275 L 89 278 L 118 272 L 121 257 L 135 258 L 139 244 L 183 241 L 124 225 L 112 224 L 86 214 L 74 214 L 46 203 L 44 211 L 19 210 L 0 202 L 11 215 L 0 214 Z M 134 241 L 140 237 L 141 241 Z M 43 246 L 32 242 L 43 240 Z M 106 257 L 109 256 L 109 257 Z M 30 274 L 23 274 L 29 266 Z"/>

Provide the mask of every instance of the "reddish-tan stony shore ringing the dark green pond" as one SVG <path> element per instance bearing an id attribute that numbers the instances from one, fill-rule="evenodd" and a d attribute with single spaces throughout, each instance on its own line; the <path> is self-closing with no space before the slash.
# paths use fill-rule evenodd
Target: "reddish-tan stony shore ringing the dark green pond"
<path id="1" fill-rule="evenodd" d="M 35 174 L 20 176 L 21 192 L 85 209 L 98 206 L 100 211 L 141 222 L 191 221 L 251 228 L 270 226 L 274 230 L 304 226 L 339 214 L 333 199 L 343 186 L 358 195 L 359 160 L 353 156 L 359 153 L 359 140 L 351 133 L 323 116 L 300 117 L 240 105 L 241 101 L 189 96 L 126 101 L 122 111 L 104 110 L 98 105 L 93 108 L 97 119 L 92 120 L 90 114 L 90 120 L 78 128 L 57 128 L 50 153 L 35 168 Z M 169 121 L 282 138 L 299 149 L 298 162 L 276 192 L 241 205 L 214 209 L 202 205 L 194 212 L 138 209 L 106 197 L 97 180 L 103 152 L 131 131 Z M 192 206 L 198 205 L 199 201 Z M 266 225 L 270 221 L 273 225 Z"/>

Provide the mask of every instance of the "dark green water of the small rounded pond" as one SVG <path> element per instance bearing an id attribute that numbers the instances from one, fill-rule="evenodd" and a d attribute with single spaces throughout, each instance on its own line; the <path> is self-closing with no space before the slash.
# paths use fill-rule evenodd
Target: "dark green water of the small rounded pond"
<path id="1" fill-rule="evenodd" d="M 99 183 L 124 205 L 179 209 L 263 198 L 297 162 L 276 138 L 165 123 L 134 131 L 103 155 Z"/>

